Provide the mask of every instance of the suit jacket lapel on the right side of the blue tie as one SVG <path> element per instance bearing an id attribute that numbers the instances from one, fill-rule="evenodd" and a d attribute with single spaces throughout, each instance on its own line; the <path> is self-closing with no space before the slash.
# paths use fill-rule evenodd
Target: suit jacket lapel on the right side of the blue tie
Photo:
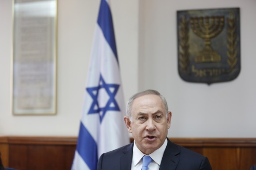
<path id="1" fill-rule="evenodd" d="M 167 146 L 159 170 L 175 170 L 179 163 L 179 148 L 167 138 Z"/>

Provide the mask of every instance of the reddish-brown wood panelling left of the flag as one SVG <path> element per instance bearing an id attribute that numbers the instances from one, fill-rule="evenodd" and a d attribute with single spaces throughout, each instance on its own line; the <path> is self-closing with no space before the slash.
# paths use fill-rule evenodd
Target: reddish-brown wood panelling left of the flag
<path id="1" fill-rule="evenodd" d="M 77 143 L 77 138 L 69 137 L 1 138 L 8 142 L 9 151 L 0 150 L 3 164 L 19 170 L 70 170 Z"/>

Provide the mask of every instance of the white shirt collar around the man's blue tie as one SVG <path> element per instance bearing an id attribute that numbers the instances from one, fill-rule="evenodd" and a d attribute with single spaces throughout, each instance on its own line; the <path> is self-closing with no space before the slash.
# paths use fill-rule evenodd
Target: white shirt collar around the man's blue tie
<path id="1" fill-rule="evenodd" d="M 159 149 L 155 150 L 149 155 L 159 166 L 164 156 L 166 146 L 167 146 L 167 139 L 165 139 L 164 144 Z M 145 154 L 139 150 L 139 148 L 137 147 L 134 141 L 133 156 L 132 156 L 132 162 L 134 166 L 136 166 L 139 163 L 139 161 L 142 159 L 143 156 L 145 156 Z"/>

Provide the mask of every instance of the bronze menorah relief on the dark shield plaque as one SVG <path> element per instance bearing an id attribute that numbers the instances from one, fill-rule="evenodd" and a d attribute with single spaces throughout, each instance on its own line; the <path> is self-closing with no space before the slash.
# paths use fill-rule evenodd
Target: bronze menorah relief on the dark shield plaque
<path id="1" fill-rule="evenodd" d="M 211 39 L 219 35 L 223 30 L 224 16 L 194 17 L 190 18 L 192 31 L 204 39 L 205 46 L 199 55 L 195 57 L 196 63 L 219 62 L 220 55 L 212 49 Z"/>

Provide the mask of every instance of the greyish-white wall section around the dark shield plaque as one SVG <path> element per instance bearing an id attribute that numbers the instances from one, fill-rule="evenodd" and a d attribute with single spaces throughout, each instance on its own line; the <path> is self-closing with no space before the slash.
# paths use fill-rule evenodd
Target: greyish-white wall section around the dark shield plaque
<path id="1" fill-rule="evenodd" d="M 176 11 L 240 7 L 241 72 L 234 81 L 189 83 L 178 74 Z M 168 136 L 256 137 L 256 1 L 140 1 L 139 90 L 158 89 L 172 111 Z M 140 25 L 141 26 L 141 25 Z"/>

